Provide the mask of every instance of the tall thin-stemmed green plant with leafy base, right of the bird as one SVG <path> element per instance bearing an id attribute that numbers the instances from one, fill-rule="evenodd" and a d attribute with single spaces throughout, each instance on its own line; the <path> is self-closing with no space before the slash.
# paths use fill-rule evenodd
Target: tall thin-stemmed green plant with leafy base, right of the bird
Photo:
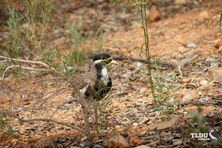
<path id="1" fill-rule="evenodd" d="M 142 28 L 144 32 L 145 43 L 141 46 L 141 53 L 145 50 L 146 64 L 149 75 L 149 83 L 151 88 L 151 93 L 154 99 L 154 107 L 156 110 L 162 111 L 162 118 L 166 118 L 166 115 L 173 113 L 176 104 L 174 99 L 177 97 L 177 92 L 180 86 L 176 85 L 177 77 L 175 72 L 172 72 L 168 78 L 165 77 L 166 73 L 160 71 L 160 62 L 158 59 L 150 57 L 149 51 L 149 33 L 148 33 L 148 21 L 146 9 L 149 3 L 145 0 L 131 0 L 133 5 L 138 6 L 141 15 Z M 152 67 L 154 69 L 152 70 Z M 170 100 L 169 100 L 170 99 Z"/>

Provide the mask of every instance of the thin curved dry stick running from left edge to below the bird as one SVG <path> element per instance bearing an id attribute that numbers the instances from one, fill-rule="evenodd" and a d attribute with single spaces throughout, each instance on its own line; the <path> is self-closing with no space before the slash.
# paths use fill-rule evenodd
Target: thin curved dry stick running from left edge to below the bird
<path id="1" fill-rule="evenodd" d="M 34 121 L 53 122 L 53 123 L 56 123 L 56 124 L 60 124 L 60 125 L 64 125 L 64 126 L 70 127 L 70 128 L 72 128 L 72 129 L 75 129 L 75 130 L 77 130 L 77 131 L 79 131 L 79 132 L 87 135 L 87 132 L 84 131 L 83 129 L 78 128 L 78 127 L 76 127 L 76 126 L 72 126 L 72 125 L 70 125 L 70 124 L 68 124 L 68 123 L 65 123 L 65 122 L 60 122 L 60 121 L 56 121 L 56 120 L 53 120 L 53 119 L 45 119 L 45 118 L 37 118 L 37 119 L 28 119 L 28 120 L 25 120 L 25 119 L 19 118 L 19 117 L 16 116 L 16 115 L 13 115 L 13 114 L 11 114 L 11 113 L 9 113 L 9 112 L 0 111 L 0 113 L 5 113 L 5 114 L 7 114 L 7 115 L 10 116 L 10 117 L 16 118 L 16 119 L 19 120 L 19 122 L 34 122 Z"/>

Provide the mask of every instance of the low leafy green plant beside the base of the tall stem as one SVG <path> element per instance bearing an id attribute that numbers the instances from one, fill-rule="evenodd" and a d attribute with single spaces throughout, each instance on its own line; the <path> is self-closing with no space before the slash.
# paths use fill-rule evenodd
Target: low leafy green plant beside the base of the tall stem
<path id="1" fill-rule="evenodd" d="M 161 111 L 161 118 L 166 119 L 166 115 L 174 113 L 177 108 L 177 102 L 174 100 L 181 86 L 176 84 L 178 77 L 175 72 L 166 73 L 160 70 L 159 59 L 153 58 L 151 63 L 154 66 L 151 71 L 154 80 L 154 98 L 156 100 L 154 107 L 156 111 Z"/>

